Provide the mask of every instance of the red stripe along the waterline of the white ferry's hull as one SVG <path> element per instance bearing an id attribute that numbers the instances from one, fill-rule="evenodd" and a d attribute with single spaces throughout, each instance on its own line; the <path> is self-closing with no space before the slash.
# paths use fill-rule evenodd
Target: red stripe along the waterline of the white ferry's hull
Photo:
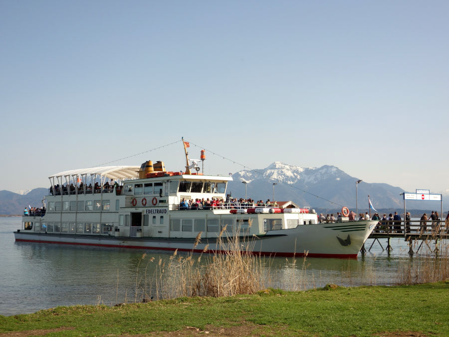
<path id="1" fill-rule="evenodd" d="M 15 241 L 21 242 L 36 242 L 36 243 L 48 243 L 48 244 L 60 244 L 60 245 L 77 245 L 77 246 L 95 246 L 95 247 L 108 247 L 108 248 L 130 248 L 130 249 L 147 249 L 147 250 L 158 250 L 158 251 L 175 251 L 179 252 L 194 252 L 201 253 L 202 249 L 185 249 L 185 248 L 166 248 L 166 247 L 147 247 L 147 246 L 127 246 L 127 245 L 107 245 L 107 244 L 90 244 L 82 242 L 55 242 L 55 241 L 44 241 L 44 240 L 24 240 L 15 239 Z M 210 250 L 211 252 L 213 250 Z M 217 251 L 218 253 L 225 253 L 225 251 Z M 275 256 L 275 257 L 304 257 L 304 253 L 270 253 L 270 252 L 252 252 L 253 255 L 263 255 L 263 256 Z M 334 258 L 334 259 L 357 259 L 357 254 L 320 254 L 320 253 L 308 253 L 309 258 Z"/>

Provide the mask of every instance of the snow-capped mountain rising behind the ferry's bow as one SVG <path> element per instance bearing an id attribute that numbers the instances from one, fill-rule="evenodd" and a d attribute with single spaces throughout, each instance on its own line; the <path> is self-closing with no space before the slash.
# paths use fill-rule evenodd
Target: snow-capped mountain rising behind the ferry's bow
<path id="1" fill-rule="evenodd" d="M 300 206 L 338 208 L 356 207 L 356 181 L 336 166 L 299 167 L 274 162 L 264 169 L 239 171 L 232 175 L 228 192 L 233 196 L 246 195 L 254 200 L 292 200 Z M 276 184 L 276 185 L 273 185 Z M 401 208 L 403 190 L 388 184 L 361 182 L 358 187 L 358 208 L 368 207 L 368 195 L 378 208 Z M 341 207 L 341 206 L 340 206 Z"/>

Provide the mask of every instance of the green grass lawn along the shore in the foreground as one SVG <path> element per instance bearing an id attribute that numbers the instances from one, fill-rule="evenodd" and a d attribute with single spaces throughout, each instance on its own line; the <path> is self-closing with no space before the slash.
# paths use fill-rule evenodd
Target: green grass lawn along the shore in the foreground
<path id="1" fill-rule="evenodd" d="M 449 336 L 449 281 L 0 316 L 0 336 Z"/>

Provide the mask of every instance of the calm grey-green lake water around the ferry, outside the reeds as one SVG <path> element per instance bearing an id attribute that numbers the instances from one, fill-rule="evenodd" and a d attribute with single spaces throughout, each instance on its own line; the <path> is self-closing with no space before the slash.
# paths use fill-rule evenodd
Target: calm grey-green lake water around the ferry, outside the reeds
<path id="1" fill-rule="evenodd" d="M 92 248 L 15 242 L 20 218 L 0 217 L 0 315 L 33 313 L 57 306 L 114 305 L 133 302 L 136 271 L 144 253 L 168 260 L 159 251 Z M 365 244 L 368 249 L 372 240 Z M 381 240 L 384 248 L 386 239 Z M 390 255 L 375 243 L 357 260 L 271 258 L 273 288 L 304 290 L 333 283 L 341 286 L 391 285 L 400 263 L 410 263 L 403 239 L 392 239 Z M 143 266 L 143 264 L 141 265 Z M 141 268 L 142 269 L 142 268 Z"/>

